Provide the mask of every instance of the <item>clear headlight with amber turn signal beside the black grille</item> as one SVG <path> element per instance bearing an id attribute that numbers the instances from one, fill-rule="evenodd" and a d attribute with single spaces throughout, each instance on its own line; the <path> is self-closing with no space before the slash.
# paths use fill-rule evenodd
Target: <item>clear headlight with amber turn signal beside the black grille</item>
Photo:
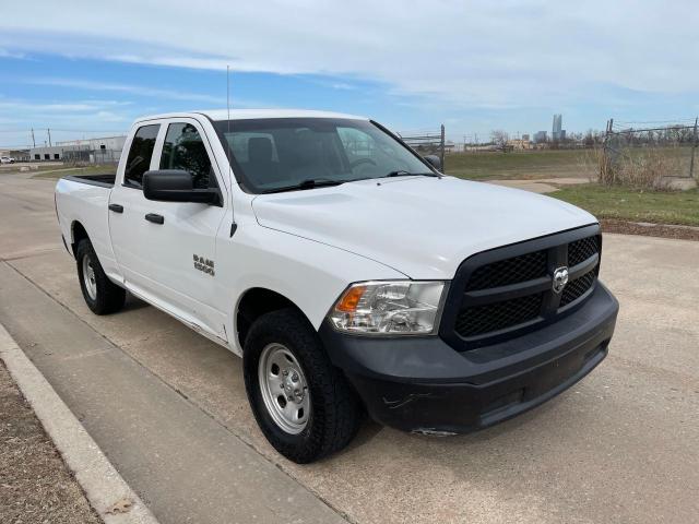
<path id="1" fill-rule="evenodd" d="M 342 294 L 328 318 L 340 331 L 418 335 L 437 331 L 443 282 L 362 282 Z"/>

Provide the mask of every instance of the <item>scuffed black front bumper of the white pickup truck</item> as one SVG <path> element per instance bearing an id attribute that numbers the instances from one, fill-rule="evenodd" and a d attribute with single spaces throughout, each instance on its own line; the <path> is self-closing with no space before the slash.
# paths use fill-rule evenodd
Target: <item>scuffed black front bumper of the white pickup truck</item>
<path id="1" fill-rule="evenodd" d="M 618 302 L 597 283 L 571 314 L 517 338 L 459 353 L 438 336 L 320 336 L 377 421 L 405 431 L 467 432 L 535 407 L 607 355 Z"/>

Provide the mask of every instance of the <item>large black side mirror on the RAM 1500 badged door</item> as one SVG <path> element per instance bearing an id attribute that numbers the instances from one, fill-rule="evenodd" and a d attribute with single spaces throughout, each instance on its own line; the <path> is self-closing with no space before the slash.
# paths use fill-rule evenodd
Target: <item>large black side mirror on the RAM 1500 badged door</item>
<path id="1" fill-rule="evenodd" d="M 159 169 L 143 174 L 143 196 L 164 202 L 199 202 L 222 205 L 215 188 L 194 189 L 190 172 L 181 169 Z"/>

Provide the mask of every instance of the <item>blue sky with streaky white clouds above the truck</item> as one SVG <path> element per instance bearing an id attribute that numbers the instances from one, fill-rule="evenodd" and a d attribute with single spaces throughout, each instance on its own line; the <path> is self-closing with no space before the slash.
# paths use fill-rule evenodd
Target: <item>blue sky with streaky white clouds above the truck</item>
<path id="1" fill-rule="evenodd" d="M 138 116 L 298 107 L 452 140 L 699 112 L 691 1 L 12 2 L 0 146 L 128 130 Z"/>

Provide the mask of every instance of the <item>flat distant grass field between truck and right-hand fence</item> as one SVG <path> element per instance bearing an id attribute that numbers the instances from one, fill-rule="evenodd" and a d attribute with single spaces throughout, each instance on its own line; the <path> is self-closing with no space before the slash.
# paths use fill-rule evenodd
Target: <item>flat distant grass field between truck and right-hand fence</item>
<path id="1" fill-rule="evenodd" d="M 472 180 L 589 177 L 595 170 L 594 152 L 589 150 L 453 153 L 445 157 L 445 172 Z"/>

